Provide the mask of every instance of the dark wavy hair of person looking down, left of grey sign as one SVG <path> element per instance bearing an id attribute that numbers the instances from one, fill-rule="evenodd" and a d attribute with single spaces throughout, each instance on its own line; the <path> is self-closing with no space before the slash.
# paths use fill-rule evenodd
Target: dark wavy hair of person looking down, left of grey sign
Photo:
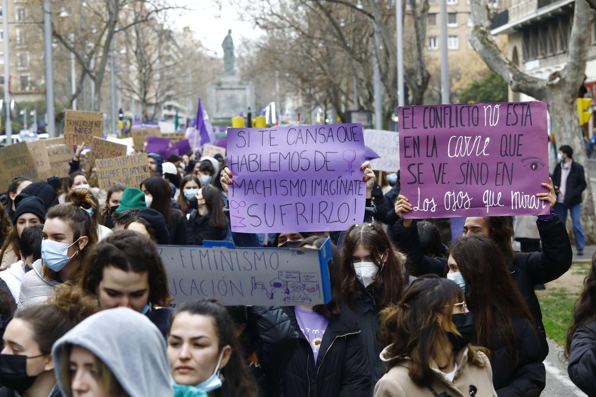
<path id="1" fill-rule="evenodd" d="M 95 244 L 82 266 L 82 288 L 86 293 L 97 294 L 97 287 L 107 266 L 114 266 L 123 272 L 147 272 L 148 301 L 152 305 L 166 306 L 172 300 L 167 290 L 166 269 L 157 247 L 141 234 L 132 230 L 121 230 Z"/>

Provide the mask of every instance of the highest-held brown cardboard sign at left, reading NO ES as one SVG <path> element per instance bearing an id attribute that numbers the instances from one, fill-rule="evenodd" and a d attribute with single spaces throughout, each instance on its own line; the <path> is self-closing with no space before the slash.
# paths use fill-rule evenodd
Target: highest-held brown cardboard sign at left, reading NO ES
<path id="1" fill-rule="evenodd" d="M 91 143 L 91 137 L 101 138 L 104 114 L 101 111 L 67 110 L 64 115 L 64 141 L 67 145 Z"/>

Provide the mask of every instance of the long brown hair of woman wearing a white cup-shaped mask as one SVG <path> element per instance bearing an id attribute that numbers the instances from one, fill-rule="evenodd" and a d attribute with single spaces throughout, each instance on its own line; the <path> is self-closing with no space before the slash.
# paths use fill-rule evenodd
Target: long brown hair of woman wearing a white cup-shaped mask
<path id="1" fill-rule="evenodd" d="M 352 255 L 361 244 L 370 250 L 371 257 L 377 264 L 381 263 L 381 255 L 389 249 L 389 258 L 377 272 L 372 287 L 375 291 L 377 309 L 382 309 L 390 303 L 398 303 L 406 285 L 405 259 L 398 258 L 398 250 L 378 222 L 355 224 L 347 229 L 342 246 L 342 300 L 353 308 L 354 302 L 360 297 Z"/>

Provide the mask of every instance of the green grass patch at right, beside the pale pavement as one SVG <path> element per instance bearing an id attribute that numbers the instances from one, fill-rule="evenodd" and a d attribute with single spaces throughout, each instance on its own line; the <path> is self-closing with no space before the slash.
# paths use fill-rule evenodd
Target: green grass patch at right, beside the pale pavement
<path id="1" fill-rule="evenodd" d="M 568 291 L 564 287 L 548 287 L 544 291 L 536 291 L 542 309 L 542 322 L 547 336 L 564 346 L 567 339 L 567 328 L 573 321 L 573 303 L 579 297 L 579 291 Z"/>

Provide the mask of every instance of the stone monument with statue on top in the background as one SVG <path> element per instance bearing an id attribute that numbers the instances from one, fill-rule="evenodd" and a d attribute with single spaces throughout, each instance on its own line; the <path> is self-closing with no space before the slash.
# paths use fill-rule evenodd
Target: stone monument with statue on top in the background
<path id="1" fill-rule="evenodd" d="M 234 70 L 235 55 L 232 30 L 228 30 L 222 42 L 224 49 L 224 74 L 219 81 L 209 83 L 207 86 L 207 113 L 215 120 L 231 120 L 240 113 L 247 116 L 249 107 L 256 116 L 254 104 L 254 86 L 252 81 L 243 81 Z"/>

